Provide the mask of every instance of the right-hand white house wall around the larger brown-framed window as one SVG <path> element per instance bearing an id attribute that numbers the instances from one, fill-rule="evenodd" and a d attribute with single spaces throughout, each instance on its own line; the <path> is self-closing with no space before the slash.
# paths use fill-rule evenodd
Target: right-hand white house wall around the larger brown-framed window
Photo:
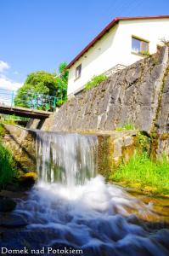
<path id="1" fill-rule="evenodd" d="M 149 53 L 153 54 L 157 44 L 161 44 L 161 38 L 169 39 L 169 19 L 120 21 L 112 47 L 115 60 L 126 66 L 143 58 L 132 53 L 132 35 L 148 40 Z"/>

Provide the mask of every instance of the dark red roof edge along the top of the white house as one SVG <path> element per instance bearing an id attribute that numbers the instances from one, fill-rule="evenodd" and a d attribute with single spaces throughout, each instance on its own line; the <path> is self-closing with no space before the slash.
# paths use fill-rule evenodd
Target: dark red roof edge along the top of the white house
<path id="1" fill-rule="evenodd" d="M 104 29 L 101 32 L 99 32 L 98 36 L 93 38 L 93 40 L 89 44 L 87 44 L 87 46 L 84 49 L 82 49 L 82 51 L 78 55 L 76 55 L 76 57 L 75 57 L 75 59 L 73 59 L 73 61 L 70 61 L 70 63 L 66 67 L 66 69 L 70 68 L 76 61 L 78 61 L 78 59 L 87 51 L 87 49 L 89 49 L 91 46 L 93 46 L 93 44 L 95 44 L 99 40 L 99 38 L 103 37 L 104 34 L 106 32 L 108 32 L 112 26 L 115 26 L 115 24 L 117 24 L 120 20 L 150 20 L 150 19 L 169 19 L 169 15 L 115 18 L 114 20 L 112 20 L 110 22 L 110 24 L 105 26 Z"/>

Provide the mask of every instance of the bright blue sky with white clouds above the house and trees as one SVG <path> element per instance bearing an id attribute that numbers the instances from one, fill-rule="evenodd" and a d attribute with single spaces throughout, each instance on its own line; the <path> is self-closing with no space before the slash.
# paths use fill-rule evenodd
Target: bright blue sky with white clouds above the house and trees
<path id="1" fill-rule="evenodd" d="M 0 88 L 58 71 L 115 17 L 146 15 L 169 15 L 169 0 L 0 0 Z"/>

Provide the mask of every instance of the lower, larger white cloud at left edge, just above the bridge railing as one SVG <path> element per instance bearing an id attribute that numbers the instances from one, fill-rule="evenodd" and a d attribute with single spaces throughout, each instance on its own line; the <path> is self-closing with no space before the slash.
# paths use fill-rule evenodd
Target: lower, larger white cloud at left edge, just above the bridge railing
<path id="1" fill-rule="evenodd" d="M 18 90 L 23 84 L 14 82 L 4 75 L 0 75 L 0 89 L 4 90 Z"/>

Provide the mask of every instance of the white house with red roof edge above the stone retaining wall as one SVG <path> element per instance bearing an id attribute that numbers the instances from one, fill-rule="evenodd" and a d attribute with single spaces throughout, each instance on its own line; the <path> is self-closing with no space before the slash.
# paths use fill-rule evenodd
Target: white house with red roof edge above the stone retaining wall
<path id="1" fill-rule="evenodd" d="M 169 39 L 169 15 L 115 18 L 66 67 L 68 96 L 76 94 L 94 75 L 115 73 L 153 54 Z"/>

